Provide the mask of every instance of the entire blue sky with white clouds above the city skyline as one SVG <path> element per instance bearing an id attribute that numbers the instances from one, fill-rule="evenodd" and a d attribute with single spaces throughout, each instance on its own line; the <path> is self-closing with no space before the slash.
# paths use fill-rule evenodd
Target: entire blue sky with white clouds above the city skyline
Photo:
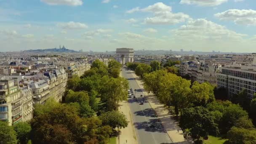
<path id="1" fill-rule="evenodd" d="M 0 0 L 0 51 L 256 52 L 256 0 Z"/>

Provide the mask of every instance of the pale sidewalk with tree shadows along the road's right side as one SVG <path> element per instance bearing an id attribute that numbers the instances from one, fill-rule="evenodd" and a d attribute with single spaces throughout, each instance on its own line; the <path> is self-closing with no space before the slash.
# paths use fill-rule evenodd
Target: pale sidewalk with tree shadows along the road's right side
<path id="1" fill-rule="evenodd" d="M 136 79 L 139 87 L 143 90 L 143 93 L 146 96 L 150 106 L 155 110 L 157 117 L 161 121 L 163 127 L 167 131 L 173 143 L 191 144 L 192 139 L 184 139 L 183 132 L 179 127 L 179 122 L 171 118 L 171 114 L 168 112 L 168 109 L 165 109 L 164 105 L 160 104 L 154 94 L 149 94 L 144 91 L 143 83 L 140 78 L 135 75 L 135 73 L 133 73 L 132 75 Z"/>

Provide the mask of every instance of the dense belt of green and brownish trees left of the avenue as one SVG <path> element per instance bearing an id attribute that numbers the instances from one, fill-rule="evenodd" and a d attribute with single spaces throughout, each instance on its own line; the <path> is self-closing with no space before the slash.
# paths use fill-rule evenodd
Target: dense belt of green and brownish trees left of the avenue
<path id="1" fill-rule="evenodd" d="M 30 123 L 0 122 L 0 143 L 106 144 L 117 133 L 115 128 L 128 125 L 125 115 L 117 111 L 128 89 L 128 81 L 119 77 L 121 67 L 114 60 L 108 67 L 94 61 L 82 77 L 68 80 L 63 103 L 49 99 L 35 105 Z M 98 106 L 97 97 L 104 104 Z"/>

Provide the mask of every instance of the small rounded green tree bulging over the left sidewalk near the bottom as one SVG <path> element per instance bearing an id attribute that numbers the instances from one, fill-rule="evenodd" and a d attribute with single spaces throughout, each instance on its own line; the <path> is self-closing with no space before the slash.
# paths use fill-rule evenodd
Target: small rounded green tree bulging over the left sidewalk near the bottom
<path id="1" fill-rule="evenodd" d="M 126 128 L 128 125 L 127 118 L 118 111 L 111 111 L 101 114 L 99 117 L 103 125 L 109 125 L 112 129 Z"/>

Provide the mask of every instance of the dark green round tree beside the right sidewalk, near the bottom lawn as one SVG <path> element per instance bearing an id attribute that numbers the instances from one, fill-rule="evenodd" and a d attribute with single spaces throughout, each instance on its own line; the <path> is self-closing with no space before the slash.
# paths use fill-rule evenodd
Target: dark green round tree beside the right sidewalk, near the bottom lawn
<path id="1" fill-rule="evenodd" d="M 179 123 L 182 129 L 189 129 L 194 139 L 219 134 L 218 124 L 214 122 L 212 113 L 204 107 L 185 108 Z"/>

